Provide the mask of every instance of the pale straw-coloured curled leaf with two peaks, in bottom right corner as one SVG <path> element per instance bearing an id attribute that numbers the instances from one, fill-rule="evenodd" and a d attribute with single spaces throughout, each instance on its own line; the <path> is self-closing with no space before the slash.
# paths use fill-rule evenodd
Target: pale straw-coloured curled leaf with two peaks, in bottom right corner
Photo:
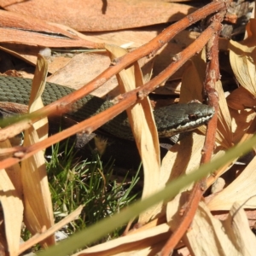
<path id="1" fill-rule="evenodd" d="M 222 223 L 200 202 L 191 228 L 184 237 L 185 244 L 189 243 L 194 255 L 255 254 L 256 238 L 240 206 L 235 203 L 229 217 Z"/>

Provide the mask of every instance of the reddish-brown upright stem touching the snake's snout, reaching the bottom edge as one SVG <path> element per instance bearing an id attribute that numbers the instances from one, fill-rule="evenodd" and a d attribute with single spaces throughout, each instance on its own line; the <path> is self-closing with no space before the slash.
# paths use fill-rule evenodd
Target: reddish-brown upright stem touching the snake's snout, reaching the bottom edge
<path id="1" fill-rule="evenodd" d="M 212 151 L 214 148 L 215 142 L 215 133 L 217 129 L 217 121 L 218 121 L 218 95 L 216 90 L 214 90 L 214 85 L 219 79 L 219 68 L 218 68 L 218 35 L 221 31 L 221 21 L 224 19 L 224 12 L 219 13 L 218 15 L 213 16 L 212 26 L 214 26 L 215 34 L 207 43 L 207 77 L 205 81 L 205 90 L 206 94 L 209 98 L 209 103 L 212 107 L 215 108 L 215 114 L 212 120 L 208 124 L 207 136 L 204 148 L 202 150 L 201 156 L 201 164 L 207 163 L 211 160 Z M 205 192 L 206 179 L 202 179 L 200 182 L 195 183 L 190 195 L 189 201 L 185 205 L 185 212 L 183 214 L 183 218 L 181 223 L 177 227 L 171 236 L 171 238 L 166 242 L 165 247 L 163 247 L 161 251 L 161 256 L 171 255 L 174 247 L 177 245 L 178 241 L 183 237 L 185 232 L 189 229 L 189 225 L 191 224 L 196 209 L 198 207 L 199 202 L 201 201 L 201 197 Z"/>

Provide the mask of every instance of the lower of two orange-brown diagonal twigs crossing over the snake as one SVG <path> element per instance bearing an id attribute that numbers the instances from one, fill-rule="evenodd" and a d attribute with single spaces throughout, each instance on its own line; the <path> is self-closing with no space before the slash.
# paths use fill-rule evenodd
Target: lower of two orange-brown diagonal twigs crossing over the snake
<path id="1" fill-rule="evenodd" d="M 79 131 L 84 131 L 88 134 L 92 131 L 95 131 L 97 128 L 108 122 L 109 119 L 113 119 L 113 117 L 117 116 L 126 108 L 131 107 L 131 105 L 137 102 L 137 95 L 147 96 L 150 91 L 154 90 L 158 84 L 169 78 L 172 73 L 177 71 L 177 69 L 181 67 L 186 61 L 188 61 L 189 58 L 195 55 L 196 52 L 200 52 L 203 46 L 207 44 L 209 38 L 212 38 L 217 28 L 218 23 L 213 21 L 212 26 L 209 26 L 204 32 L 201 33 L 201 36 L 197 38 L 195 42 L 190 44 L 186 49 L 183 49 L 183 51 L 177 55 L 177 61 L 172 62 L 172 64 L 166 67 L 164 71 L 162 71 L 154 79 L 150 80 L 147 84 L 144 84 L 142 87 L 138 87 L 135 90 L 131 90 L 130 92 L 123 94 L 121 97 L 119 97 L 121 100 L 113 107 L 108 108 L 104 112 L 98 113 L 96 116 L 93 116 L 90 119 L 86 119 L 77 125 L 73 125 L 72 127 L 61 131 L 60 133 L 55 134 L 42 142 L 35 143 L 28 148 L 20 149 L 19 147 L 19 157 L 14 155 L 13 157 L 10 157 L 6 160 L 2 160 L 0 162 L 0 168 L 7 168 L 12 166 L 20 160 L 24 160 L 32 156 L 32 154 L 35 154 L 39 150 L 47 148 L 54 143 L 58 143 Z"/>

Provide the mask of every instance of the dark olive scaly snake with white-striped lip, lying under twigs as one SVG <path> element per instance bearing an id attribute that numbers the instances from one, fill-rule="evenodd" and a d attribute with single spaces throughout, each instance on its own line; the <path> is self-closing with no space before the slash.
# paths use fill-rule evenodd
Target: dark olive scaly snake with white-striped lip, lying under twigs
<path id="1" fill-rule="evenodd" d="M 27 105 L 32 79 L 0 76 L 0 102 L 13 102 Z M 60 84 L 46 83 L 42 100 L 44 105 L 59 100 L 72 93 L 73 89 Z M 87 95 L 73 102 L 67 116 L 82 121 L 113 106 L 113 102 L 97 96 Z M 159 137 L 172 137 L 184 131 L 191 131 L 212 119 L 214 108 L 200 102 L 172 104 L 154 110 L 154 120 Z M 125 112 L 111 119 L 102 130 L 114 137 L 133 140 L 131 126 Z"/>

